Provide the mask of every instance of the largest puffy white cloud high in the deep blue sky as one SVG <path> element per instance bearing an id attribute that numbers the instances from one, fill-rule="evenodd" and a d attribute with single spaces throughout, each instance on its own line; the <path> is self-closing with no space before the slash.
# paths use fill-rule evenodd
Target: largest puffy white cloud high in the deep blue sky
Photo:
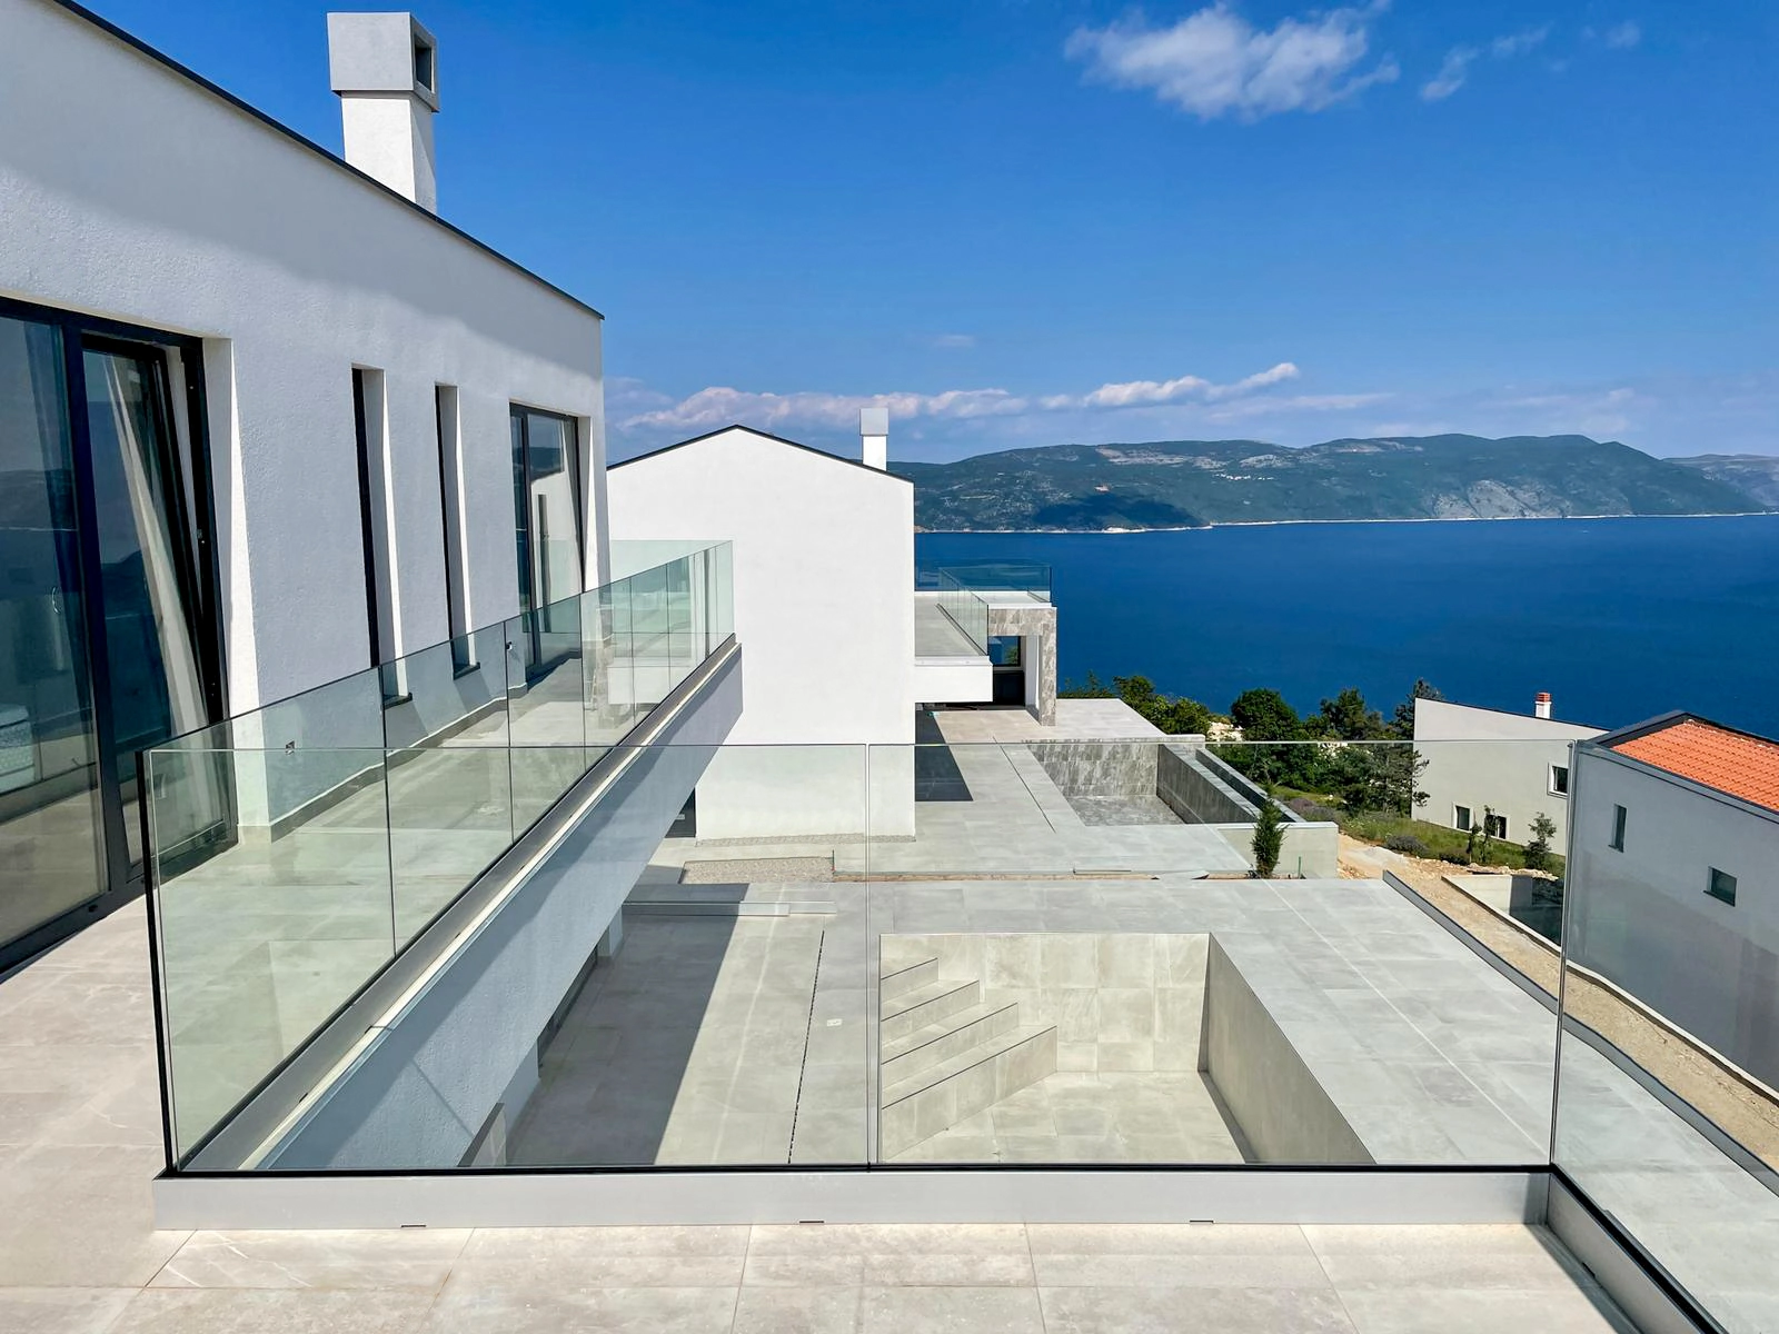
<path id="1" fill-rule="evenodd" d="M 1149 27 L 1140 14 L 1103 28 L 1076 28 L 1064 53 L 1085 60 L 1089 75 L 1117 87 L 1147 89 L 1201 121 L 1236 116 L 1256 121 L 1292 110 L 1322 110 L 1400 69 L 1389 55 L 1359 71 L 1370 50 L 1370 23 L 1388 0 L 1286 18 L 1256 28 L 1224 0 L 1172 27 Z"/>

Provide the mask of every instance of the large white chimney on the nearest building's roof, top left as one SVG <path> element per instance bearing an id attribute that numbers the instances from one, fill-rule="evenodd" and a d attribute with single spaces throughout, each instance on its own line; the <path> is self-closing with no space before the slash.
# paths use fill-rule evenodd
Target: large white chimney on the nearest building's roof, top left
<path id="1" fill-rule="evenodd" d="M 345 160 L 436 213 L 438 43 L 413 14 L 329 14 L 327 73 Z"/>

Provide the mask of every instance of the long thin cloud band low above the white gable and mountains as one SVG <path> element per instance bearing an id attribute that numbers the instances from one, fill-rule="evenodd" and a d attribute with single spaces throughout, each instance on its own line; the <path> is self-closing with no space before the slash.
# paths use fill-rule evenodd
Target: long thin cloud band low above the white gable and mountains
<path id="1" fill-rule="evenodd" d="M 1119 407 L 1158 407 L 1165 404 L 1219 404 L 1261 393 L 1274 384 L 1297 379 L 1290 361 L 1247 375 L 1231 384 L 1215 384 L 1199 375 L 1171 381 L 1130 381 L 1101 384 L 1087 393 L 1023 397 L 1007 390 L 945 390 L 943 393 L 761 393 L 712 386 L 676 404 L 651 407 L 621 422 L 624 430 L 674 429 L 708 430 L 745 422 L 754 427 L 808 425 L 856 427 L 861 407 L 888 407 L 898 422 L 913 418 L 971 420 L 1026 416 L 1034 413 L 1108 411 Z"/>

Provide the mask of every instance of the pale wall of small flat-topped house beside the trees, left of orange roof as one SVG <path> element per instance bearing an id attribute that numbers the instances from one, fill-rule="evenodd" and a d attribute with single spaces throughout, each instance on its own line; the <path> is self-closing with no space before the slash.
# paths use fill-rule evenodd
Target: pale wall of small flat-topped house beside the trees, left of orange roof
<path id="1" fill-rule="evenodd" d="M 1414 749 L 1427 759 L 1420 790 L 1427 800 L 1414 815 L 1436 825 L 1453 824 L 1453 808 L 1468 806 L 1482 824 L 1485 806 L 1507 816 L 1510 843 L 1532 838 L 1532 818 L 1557 824 L 1551 847 L 1569 838 L 1569 800 L 1550 790 L 1551 765 L 1569 763 L 1569 745 L 1599 736 L 1598 727 L 1557 722 L 1493 708 L 1414 701 Z"/>

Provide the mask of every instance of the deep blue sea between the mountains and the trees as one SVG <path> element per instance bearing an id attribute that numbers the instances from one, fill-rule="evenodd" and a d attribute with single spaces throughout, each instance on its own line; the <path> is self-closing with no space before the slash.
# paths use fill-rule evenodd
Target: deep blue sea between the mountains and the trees
<path id="1" fill-rule="evenodd" d="M 1621 727 L 1683 708 L 1779 736 L 1779 516 L 918 534 L 922 567 L 1053 567 L 1059 672 L 1226 711 L 1423 676 L 1464 704 Z"/>

